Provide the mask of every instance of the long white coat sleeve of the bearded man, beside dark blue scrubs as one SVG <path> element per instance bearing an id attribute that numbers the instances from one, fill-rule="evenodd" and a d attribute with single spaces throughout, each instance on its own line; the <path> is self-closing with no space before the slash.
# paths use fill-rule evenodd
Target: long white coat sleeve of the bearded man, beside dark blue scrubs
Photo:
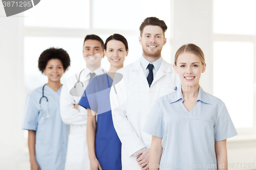
<path id="1" fill-rule="evenodd" d="M 112 86 L 111 88 L 110 104 L 113 124 L 117 135 L 121 140 L 122 147 L 129 156 L 132 156 L 134 153 L 145 148 L 146 146 L 138 137 L 136 131 L 126 116 L 126 99 L 126 87 L 124 79 L 122 79 L 119 83 L 117 83 L 115 86 Z"/>

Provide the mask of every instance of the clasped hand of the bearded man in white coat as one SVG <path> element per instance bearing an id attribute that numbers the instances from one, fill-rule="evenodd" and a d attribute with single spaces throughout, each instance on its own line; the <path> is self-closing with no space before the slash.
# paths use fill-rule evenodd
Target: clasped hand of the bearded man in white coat
<path id="1" fill-rule="evenodd" d="M 142 167 L 141 169 L 145 169 L 145 170 L 149 169 L 148 162 L 150 160 L 150 149 L 141 150 L 141 151 L 137 152 L 134 156 L 137 157 L 139 155 L 141 155 L 141 156 L 138 157 L 136 160 L 137 160 L 139 166 Z"/>

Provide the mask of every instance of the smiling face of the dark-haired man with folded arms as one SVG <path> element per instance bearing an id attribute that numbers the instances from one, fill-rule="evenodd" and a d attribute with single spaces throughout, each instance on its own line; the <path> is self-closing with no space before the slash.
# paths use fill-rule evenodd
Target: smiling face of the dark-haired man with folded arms
<path id="1" fill-rule="evenodd" d="M 87 66 L 95 68 L 100 66 L 101 59 L 104 57 L 104 51 L 101 43 L 98 40 L 93 39 L 89 39 L 84 42 L 82 54 Z"/>

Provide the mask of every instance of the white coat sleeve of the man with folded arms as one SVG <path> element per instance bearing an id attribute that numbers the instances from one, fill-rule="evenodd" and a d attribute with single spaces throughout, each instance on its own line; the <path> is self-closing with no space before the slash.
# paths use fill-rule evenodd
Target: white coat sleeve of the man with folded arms
<path id="1" fill-rule="evenodd" d="M 67 83 L 63 83 L 60 92 L 60 115 L 65 124 L 68 125 L 86 125 L 87 110 L 80 107 L 79 110 L 74 108 L 75 97 L 70 95 Z"/>

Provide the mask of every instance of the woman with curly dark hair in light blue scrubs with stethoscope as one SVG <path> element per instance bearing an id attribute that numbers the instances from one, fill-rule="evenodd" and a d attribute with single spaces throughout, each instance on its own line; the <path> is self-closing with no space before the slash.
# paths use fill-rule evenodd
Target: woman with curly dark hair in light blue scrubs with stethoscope
<path id="1" fill-rule="evenodd" d="M 49 48 L 39 57 L 38 68 L 48 77 L 48 83 L 28 94 L 22 124 L 22 129 L 29 131 L 31 170 L 64 169 L 68 127 L 60 117 L 59 95 L 60 78 L 69 65 L 69 54 L 62 48 Z"/>

